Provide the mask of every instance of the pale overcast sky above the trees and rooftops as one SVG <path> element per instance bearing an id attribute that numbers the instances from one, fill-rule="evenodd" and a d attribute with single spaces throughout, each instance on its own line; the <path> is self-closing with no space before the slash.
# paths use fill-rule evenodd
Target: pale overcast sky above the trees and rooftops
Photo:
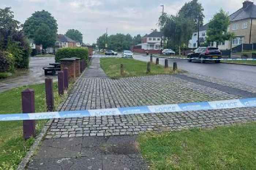
<path id="1" fill-rule="evenodd" d="M 58 33 L 77 29 L 83 34 L 83 42 L 96 42 L 97 37 L 108 34 L 150 33 L 164 11 L 176 14 L 189 0 L 0 0 L 0 8 L 11 7 L 15 19 L 24 23 L 34 11 L 50 12 L 58 23 Z M 199 0 L 204 8 L 207 23 L 220 8 L 229 14 L 242 7 L 244 0 Z"/>

